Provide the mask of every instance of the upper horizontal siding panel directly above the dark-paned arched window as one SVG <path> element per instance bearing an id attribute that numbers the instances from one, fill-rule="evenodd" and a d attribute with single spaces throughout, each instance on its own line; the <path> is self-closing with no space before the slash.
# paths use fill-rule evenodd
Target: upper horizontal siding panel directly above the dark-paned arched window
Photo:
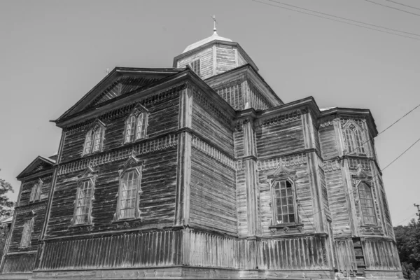
<path id="1" fill-rule="evenodd" d="M 264 120 L 261 132 L 257 133 L 257 149 L 259 157 L 272 157 L 304 149 L 300 114 L 292 113 L 290 116 Z"/>

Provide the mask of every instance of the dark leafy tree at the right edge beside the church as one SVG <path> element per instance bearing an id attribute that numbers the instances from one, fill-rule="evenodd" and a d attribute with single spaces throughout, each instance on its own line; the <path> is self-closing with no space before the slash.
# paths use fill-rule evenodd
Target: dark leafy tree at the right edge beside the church
<path id="1" fill-rule="evenodd" d="M 405 279 L 420 280 L 420 222 L 412 219 L 408 225 L 394 228 Z"/>

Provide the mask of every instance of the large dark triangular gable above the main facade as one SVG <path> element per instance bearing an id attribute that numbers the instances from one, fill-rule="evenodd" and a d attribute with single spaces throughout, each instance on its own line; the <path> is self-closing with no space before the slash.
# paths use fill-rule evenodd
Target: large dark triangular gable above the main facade
<path id="1" fill-rule="evenodd" d="M 173 68 L 146 69 L 116 67 L 95 85 L 90 92 L 87 92 L 76 104 L 57 118 L 55 123 L 79 111 L 90 109 L 122 94 L 156 83 L 158 80 L 179 73 L 182 70 Z"/>

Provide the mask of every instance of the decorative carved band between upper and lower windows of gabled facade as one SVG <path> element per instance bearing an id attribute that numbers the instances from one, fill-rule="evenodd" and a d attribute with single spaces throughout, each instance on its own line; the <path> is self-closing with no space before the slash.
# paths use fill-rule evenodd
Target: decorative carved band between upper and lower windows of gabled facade
<path id="1" fill-rule="evenodd" d="M 133 152 L 136 153 L 136 155 L 144 155 L 146 153 L 161 151 L 166 148 L 176 146 L 177 143 L 178 139 L 176 134 L 167 134 L 165 137 L 141 141 L 139 144 L 118 148 L 108 153 L 100 153 L 81 160 L 64 163 L 58 167 L 58 175 L 60 176 L 70 172 L 78 172 L 86 169 L 87 167 L 97 167 L 117 160 L 124 160 L 130 158 Z"/>

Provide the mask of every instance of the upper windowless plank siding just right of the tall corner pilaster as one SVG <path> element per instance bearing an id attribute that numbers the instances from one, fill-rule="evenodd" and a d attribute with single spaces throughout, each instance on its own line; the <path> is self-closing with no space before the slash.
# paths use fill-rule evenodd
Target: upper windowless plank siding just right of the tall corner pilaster
<path id="1" fill-rule="evenodd" d="M 230 127 L 210 113 L 197 98 L 193 98 L 192 128 L 214 146 L 233 156 L 233 133 Z"/>

